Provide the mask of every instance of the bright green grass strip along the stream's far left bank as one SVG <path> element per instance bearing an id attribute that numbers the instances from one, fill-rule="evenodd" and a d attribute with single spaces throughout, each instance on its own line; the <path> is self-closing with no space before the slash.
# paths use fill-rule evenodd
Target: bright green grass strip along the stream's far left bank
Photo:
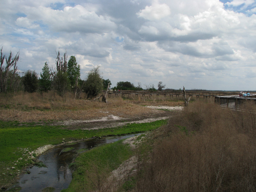
<path id="1" fill-rule="evenodd" d="M 63 126 L 0 121 L 0 180 L 3 185 L 10 182 L 23 167 L 32 163 L 32 160 L 28 158 L 29 152 L 44 145 L 60 144 L 63 138 L 65 141 L 72 141 L 82 138 L 146 132 L 166 123 L 167 120 L 159 120 L 99 130 L 68 130 Z M 12 169 L 12 167 L 15 168 Z"/>

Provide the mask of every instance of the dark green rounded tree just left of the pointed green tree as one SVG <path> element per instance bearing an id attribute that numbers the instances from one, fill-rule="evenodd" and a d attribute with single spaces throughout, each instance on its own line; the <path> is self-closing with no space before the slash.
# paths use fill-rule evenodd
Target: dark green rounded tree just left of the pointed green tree
<path id="1" fill-rule="evenodd" d="M 28 70 L 22 78 L 24 84 L 24 90 L 32 93 L 37 90 L 38 87 L 38 77 L 36 71 Z"/>

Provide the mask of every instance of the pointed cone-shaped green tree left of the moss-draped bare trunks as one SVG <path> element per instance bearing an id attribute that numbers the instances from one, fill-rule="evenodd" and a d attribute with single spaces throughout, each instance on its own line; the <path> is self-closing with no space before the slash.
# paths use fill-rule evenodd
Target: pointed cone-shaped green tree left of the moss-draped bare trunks
<path id="1" fill-rule="evenodd" d="M 39 78 L 39 89 L 40 91 L 47 92 L 51 90 L 51 73 L 47 62 L 44 63 L 42 72 L 40 73 L 41 78 Z"/>

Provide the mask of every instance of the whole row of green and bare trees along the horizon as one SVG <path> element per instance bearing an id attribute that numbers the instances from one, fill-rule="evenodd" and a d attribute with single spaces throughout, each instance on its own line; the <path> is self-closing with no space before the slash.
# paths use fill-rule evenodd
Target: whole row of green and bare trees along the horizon
<path id="1" fill-rule="evenodd" d="M 3 48 L 2 48 L 3 49 Z M 34 70 L 27 70 L 21 76 L 17 62 L 19 61 L 20 52 L 14 57 L 12 52 L 9 56 L 3 55 L 2 49 L 0 52 L 0 92 L 48 92 L 56 91 L 60 96 L 65 97 L 67 92 L 73 92 L 75 98 L 80 98 L 81 93 L 85 92 L 88 98 L 96 97 L 102 90 L 106 90 L 108 85 L 111 85 L 109 79 L 103 79 L 100 73 L 100 67 L 94 67 L 87 74 L 87 77 L 82 80 L 80 78 L 80 65 L 76 62 L 75 56 L 70 56 L 67 60 L 67 51 L 63 57 L 60 56 L 60 51 L 56 52 L 56 67 L 50 68 L 47 62 L 44 63 L 40 75 Z M 5 65 L 4 65 L 5 61 Z M 145 85 L 147 90 L 156 91 L 154 84 Z M 162 91 L 165 87 L 163 82 L 158 83 L 158 90 Z M 135 86 L 131 82 L 120 81 L 114 90 L 134 90 L 142 91 L 141 83 Z"/>

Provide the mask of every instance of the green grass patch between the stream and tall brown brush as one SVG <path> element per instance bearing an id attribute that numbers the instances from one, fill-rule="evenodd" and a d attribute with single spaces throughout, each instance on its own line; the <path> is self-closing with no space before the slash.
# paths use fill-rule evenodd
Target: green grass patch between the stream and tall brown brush
<path id="1" fill-rule="evenodd" d="M 131 148 L 128 144 L 123 144 L 122 140 L 80 154 L 74 163 L 76 170 L 72 174 L 72 181 L 68 189 L 62 192 L 97 191 L 97 187 L 106 181 L 110 172 L 131 155 Z"/>

